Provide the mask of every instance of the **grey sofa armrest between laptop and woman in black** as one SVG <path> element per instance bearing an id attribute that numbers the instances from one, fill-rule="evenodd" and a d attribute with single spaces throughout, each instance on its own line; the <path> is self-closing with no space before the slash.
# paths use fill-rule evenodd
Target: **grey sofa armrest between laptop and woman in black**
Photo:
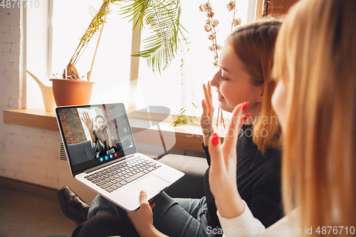
<path id="1" fill-rule="evenodd" d="M 184 177 L 169 186 L 165 192 L 173 198 L 199 199 L 204 194 L 204 174 L 208 169 L 205 158 L 167 154 L 159 162 L 184 172 Z"/>

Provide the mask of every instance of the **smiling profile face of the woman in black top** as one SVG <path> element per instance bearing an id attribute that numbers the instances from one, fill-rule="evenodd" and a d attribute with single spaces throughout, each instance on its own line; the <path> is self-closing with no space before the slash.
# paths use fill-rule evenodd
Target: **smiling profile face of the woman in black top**
<path id="1" fill-rule="evenodd" d="M 248 101 L 245 111 L 250 112 L 260 102 L 258 100 L 261 99 L 263 85 L 252 85 L 250 75 L 246 73 L 243 63 L 235 56 L 231 48 L 224 46 L 218 60 L 219 70 L 210 84 L 216 87 L 219 107 L 232 112 L 236 105 Z"/>

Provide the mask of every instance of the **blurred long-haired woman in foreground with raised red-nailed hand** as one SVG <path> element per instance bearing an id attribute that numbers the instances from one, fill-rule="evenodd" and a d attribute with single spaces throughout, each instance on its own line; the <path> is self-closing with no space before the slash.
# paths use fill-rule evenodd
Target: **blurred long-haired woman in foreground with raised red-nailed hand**
<path id="1" fill-rule="evenodd" d="M 234 185 L 237 132 L 209 141 L 209 179 L 225 236 L 351 235 L 356 225 L 356 1 L 301 0 L 276 42 L 272 105 L 283 130 L 285 218 L 264 230 Z M 231 172 L 232 171 L 232 172 Z M 331 226 L 331 230 L 330 230 Z M 276 231 L 278 229 L 278 232 Z M 288 231 L 286 231 L 288 230 Z M 241 235 L 239 235 L 241 236 Z"/>

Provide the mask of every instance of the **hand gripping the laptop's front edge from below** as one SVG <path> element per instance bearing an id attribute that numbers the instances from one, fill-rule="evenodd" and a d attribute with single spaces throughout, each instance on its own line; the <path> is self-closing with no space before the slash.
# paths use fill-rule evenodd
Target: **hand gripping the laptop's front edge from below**
<path id="1" fill-rule="evenodd" d="M 147 201 L 147 194 L 145 191 L 140 192 L 140 208 L 135 211 L 127 211 L 127 216 L 130 217 L 137 233 L 141 237 L 145 236 L 164 236 L 164 234 L 157 231 L 153 226 L 152 209 L 156 204 L 150 204 Z"/>

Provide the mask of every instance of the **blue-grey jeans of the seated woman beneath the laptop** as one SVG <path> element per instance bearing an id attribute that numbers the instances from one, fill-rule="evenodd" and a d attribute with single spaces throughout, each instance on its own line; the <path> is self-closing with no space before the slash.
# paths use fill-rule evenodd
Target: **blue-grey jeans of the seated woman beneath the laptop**
<path id="1" fill-rule="evenodd" d="M 152 203 L 156 204 L 152 209 L 153 224 L 167 236 L 211 236 L 208 234 L 205 197 L 172 199 L 162 192 L 155 196 Z M 125 210 L 100 195 L 96 196 L 90 205 L 88 218 L 98 214 L 117 216 L 127 225 L 133 226 Z"/>

